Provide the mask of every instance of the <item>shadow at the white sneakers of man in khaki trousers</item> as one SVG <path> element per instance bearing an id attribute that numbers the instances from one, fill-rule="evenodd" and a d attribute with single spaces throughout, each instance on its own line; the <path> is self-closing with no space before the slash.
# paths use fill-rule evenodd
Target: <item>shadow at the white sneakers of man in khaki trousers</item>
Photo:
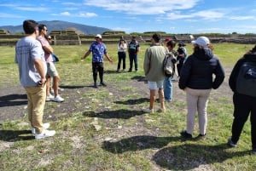
<path id="1" fill-rule="evenodd" d="M 34 140 L 31 130 L 0 130 L 0 140 L 15 142 L 19 140 Z"/>

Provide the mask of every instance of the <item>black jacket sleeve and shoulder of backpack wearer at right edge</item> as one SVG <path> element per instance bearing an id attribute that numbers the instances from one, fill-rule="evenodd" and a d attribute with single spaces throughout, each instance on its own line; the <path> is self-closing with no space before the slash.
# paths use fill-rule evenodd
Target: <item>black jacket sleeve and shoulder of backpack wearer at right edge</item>
<path id="1" fill-rule="evenodd" d="M 229 85 L 233 92 L 236 92 L 236 78 L 238 77 L 238 73 L 240 71 L 240 67 L 245 62 L 254 62 L 256 63 L 256 52 L 244 54 L 243 57 L 237 60 L 236 65 L 230 74 Z"/>

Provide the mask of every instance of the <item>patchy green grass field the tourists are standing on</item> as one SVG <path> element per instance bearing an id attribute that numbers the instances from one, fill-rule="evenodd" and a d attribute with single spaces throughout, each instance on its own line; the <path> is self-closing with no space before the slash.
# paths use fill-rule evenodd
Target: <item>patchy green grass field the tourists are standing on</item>
<path id="1" fill-rule="evenodd" d="M 173 90 L 176 99 L 168 105 L 166 113 L 152 115 L 141 111 L 148 105 L 148 89 L 137 78 L 144 76 L 143 55 L 148 44 L 142 44 L 139 71 L 121 74 L 115 73 L 117 45 L 107 44 L 114 63 L 105 62 L 104 77 L 108 87 L 98 90 L 90 88 L 91 55 L 84 62 L 80 61 L 89 45 L 53 46 L 60 58 L 56 67 L 61 86 L 66 88 L 62 93 L 65 102 L 47 103 L 44 121 L 51 123 L 57 134 L 49 139 L 34 140 L 29 132 L 26 110 L 19 111 L 20 119 L 15 120 L 12 113 L 8 113 L 9 120 L 0 121 L 0 170 L 256 170 L 256 157 L 249 152 L 249 122 L 237 148 L 226 145 L 233 112 L 232 94 L 227 85 L 229 71 L 253 45 L 213 45 L 227 77 L 222 87 L 211 94 L 207 139 L 186 141 L 179 136 L 186 124 L 186 104 L 177 84 Z M 191 54 L 191 45 L 186 48 Z M 4 95 L 3 90 L 10 93 L 19 86 L 19 76 L 14 63 L 15 47 L 1 47 L 0 54 L 0 94 Z M 126 63 L 128 67 L 128 59 Z M 70 107 L 61 111 L 66 105 Z M 0 107 L 0 113 L 3 112 Z"/>

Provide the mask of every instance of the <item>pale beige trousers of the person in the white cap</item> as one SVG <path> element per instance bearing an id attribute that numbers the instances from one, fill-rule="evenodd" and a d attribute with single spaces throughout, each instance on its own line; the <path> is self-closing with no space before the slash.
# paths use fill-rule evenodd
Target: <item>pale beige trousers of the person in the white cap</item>
<path id="1" fill-rule="evenodd" d="M 211 89 L 186 88 L 187 98 L 187 128 L 189 134 L 193 134 L 195 126 L 195 113 L 198 112 L 198 123 L 200 134 L 207 133 L 207 103 Z"/>

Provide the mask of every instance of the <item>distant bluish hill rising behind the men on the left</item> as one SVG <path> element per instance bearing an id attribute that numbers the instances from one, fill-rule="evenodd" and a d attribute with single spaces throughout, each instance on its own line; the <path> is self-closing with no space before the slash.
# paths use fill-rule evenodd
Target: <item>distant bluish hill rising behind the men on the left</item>
<path id="1" fill-rule="evenodd" d="M 51 20 L 51 21 L 38 21 L 39 24 L 44 24 L 47 26 L 48 31 L 53 30 L 67 30 L 69 28 L 76 28 L 78 31 L 83 32 L 84 34 L 102 34 L 104 31 L 111 31 L 108 28 L 97 27 L 97 26 L 86 26 L 77 23 L 61 21 L 61 20 Z M 19 26 L 0 26 L 0 29 L 9 31 L 12 34 L 24 32 L 22 24 Z"/>

